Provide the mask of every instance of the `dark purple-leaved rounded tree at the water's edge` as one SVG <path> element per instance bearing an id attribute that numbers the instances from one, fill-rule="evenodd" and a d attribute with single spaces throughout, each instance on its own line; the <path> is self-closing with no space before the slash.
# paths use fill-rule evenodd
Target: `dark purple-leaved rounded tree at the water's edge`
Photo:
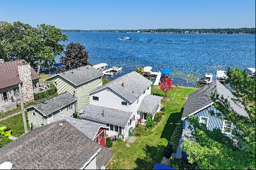
<path id="1" fill-rule="evenodd" d="M 69 43 L 64 53 L 65 56 L 61 56 L 61 63 L 64 64 L 65 70 L 91 65 L 88 62 L 89 52 L 80 43 Z"/>

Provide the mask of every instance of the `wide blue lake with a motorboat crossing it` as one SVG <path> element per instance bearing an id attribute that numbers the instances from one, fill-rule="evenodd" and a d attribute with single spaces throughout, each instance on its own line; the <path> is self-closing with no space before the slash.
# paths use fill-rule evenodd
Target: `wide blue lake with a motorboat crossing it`
<path id="1" fill-rule="evenodd" d="M 255 34 L 64 33 L 68 41 L 63 44 L 80 42 L 92 65 L 123 67 L 111 79 L 137 66 L 151 66 L 155 72 L 170 68 L 174 84 L 194 87 L 205 73 L 256 65 Z M 131 40 L 118 39 L 124 37 Z"/>

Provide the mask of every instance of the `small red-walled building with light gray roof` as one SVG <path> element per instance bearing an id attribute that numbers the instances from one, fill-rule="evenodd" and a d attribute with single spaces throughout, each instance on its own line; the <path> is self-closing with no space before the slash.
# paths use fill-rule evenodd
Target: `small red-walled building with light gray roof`
<path id="1" fill-rule="evenodd" d="M 101 144 L 102 146 L 106 146 L 106 138 L 108 137 L 107 126 L 63 115 L 54 116 L 51 123 L 62 119 L 65 119 L 67 122 L 72 124 L 76 129 L 88 136 L 94 142 Z"/>

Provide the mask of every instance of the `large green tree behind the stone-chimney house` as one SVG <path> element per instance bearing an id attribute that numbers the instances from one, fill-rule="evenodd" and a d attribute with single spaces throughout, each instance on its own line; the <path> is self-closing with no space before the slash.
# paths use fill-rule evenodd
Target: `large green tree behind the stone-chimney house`
<path id="1" fill-rule="evenodd" d="M 32 66 L 38 65 L 38 72 L 42 61 L 45 65 L 55 62 L 55 56 L 64 50 L 60 41 L 65 40 L 67 36 L 55 26 L 41 24 L 34 28 L 20 21 L 0 22 L 0 57 L 25 59 Z"/>

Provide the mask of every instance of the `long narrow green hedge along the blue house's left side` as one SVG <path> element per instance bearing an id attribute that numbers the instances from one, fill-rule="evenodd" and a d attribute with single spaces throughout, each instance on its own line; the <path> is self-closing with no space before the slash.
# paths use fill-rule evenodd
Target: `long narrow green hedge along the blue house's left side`
<path id="1" fill-rule="evenodd" d="M 172 146 L 172 150 L 173 152 L 176 152 L 177 151 L 177 147 L 178 147 L 178 144 L 180 142 L 180 137 L 181 137 L 181 133 L 182 133 L 182 120 L 179 121 L 180 124 L 177 124 L 173 134 L 172 134 L 172 137 L 170 138 L 170 142 L 169 144 L 171 144 Z"/>

